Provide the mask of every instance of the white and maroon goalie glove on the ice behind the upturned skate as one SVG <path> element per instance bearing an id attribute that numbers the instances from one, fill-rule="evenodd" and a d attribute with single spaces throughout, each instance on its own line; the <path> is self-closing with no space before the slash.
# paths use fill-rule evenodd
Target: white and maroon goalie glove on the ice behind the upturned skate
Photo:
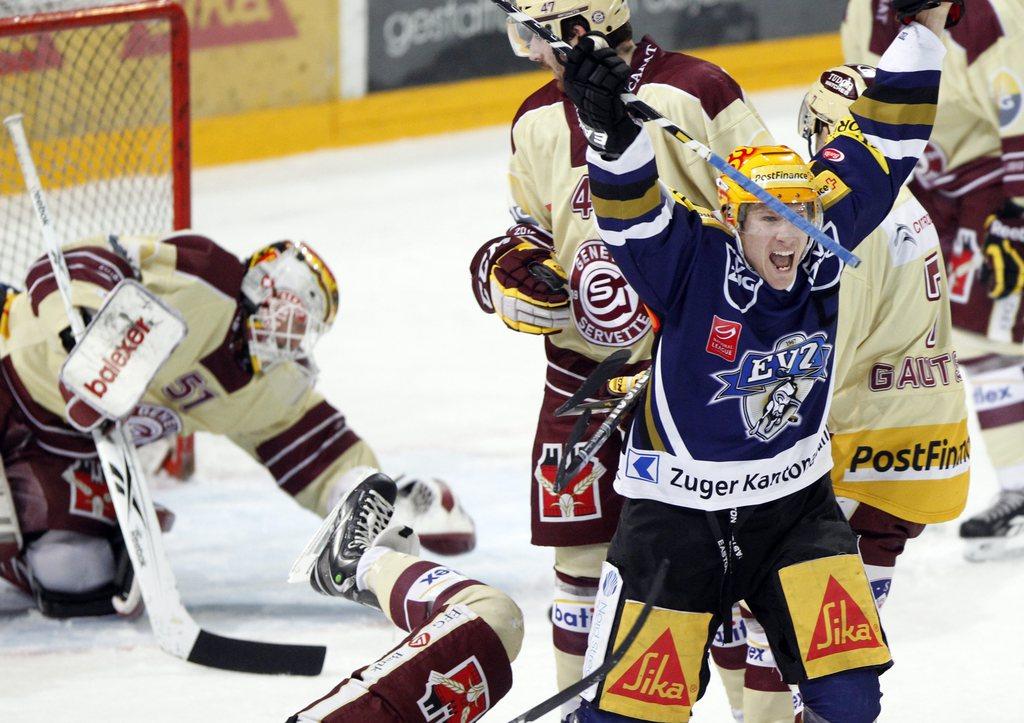
<path id="1" fill-rule="evenodd" d="M 420 543 L 438 555 L 461 555 L 476 547 L 472 518 L 440 479 L 398 477 L 395 521 L 416 530 Z"/>

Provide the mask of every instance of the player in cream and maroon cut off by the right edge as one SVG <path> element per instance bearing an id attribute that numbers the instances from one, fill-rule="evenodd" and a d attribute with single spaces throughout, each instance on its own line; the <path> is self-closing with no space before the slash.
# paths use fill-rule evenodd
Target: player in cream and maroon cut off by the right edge
<path id="1" fill-rule="evenodd" d="M 898 28 L 878 0 L 850 0 L 847 62 L 874 62 Z M 1001 487 L 961 525 L 980 560 L 999 556 L 1024 522 L 1024 5 L 974 0 L 943 42 L 935 132 L 910 188 L 939 233 L 954 344 Z"/>

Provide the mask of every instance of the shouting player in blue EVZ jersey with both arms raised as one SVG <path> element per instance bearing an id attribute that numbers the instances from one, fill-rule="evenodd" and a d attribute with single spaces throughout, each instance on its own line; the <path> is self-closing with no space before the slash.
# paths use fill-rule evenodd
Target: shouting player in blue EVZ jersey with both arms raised
<path id="1" fill-rule="evenodd" d="M 851 108 L 855 123 L 837 129 L 811 168 L 784 146 L 729 157 L 847 249 L 889 214 L 934 120 L 945 52 L 937 35 L 950 6 L 928 4 L 896 0 L 909 25 Z M 842 264 L 726 176 L 721 216 L 673 200 L 648 134 L 621 99 L 628 78 L 613 51 L 589 40 L 568 56 L 567 92 L 601 133 L 587 160 L 602 239 L 660 322 L 615 479 L 630 499 L 602 576 L 598 608 L 608 612 L 592 628 L 588 668 L 650 598 L 658 558 L 671 566 L 637 643 L 578 720 L 688 720 L 712 633 L 743 599 L 785 680 L 799 684 L 805 720 L 873 721 L 878 676 L 891 660 L 828 477 Z M 829 190 L 819 197 L 822 183 Z M 730 334 L 718 332 L 726 326 Z M 706 348 L 694 344 L 706 338 Z M 774 399 L 787 383 L 795 389 Z M 781 421 L 761 424 L 772 406 L 784 406 L 769 415 Z"/>

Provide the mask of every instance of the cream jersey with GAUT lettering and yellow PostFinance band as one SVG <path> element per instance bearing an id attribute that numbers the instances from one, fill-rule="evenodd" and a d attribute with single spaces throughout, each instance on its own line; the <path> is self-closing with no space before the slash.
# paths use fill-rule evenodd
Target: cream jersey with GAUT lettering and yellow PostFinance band
<path id="1" fill-rule="evenodd" d="M 912 522 L 953 519 L 971 474 L 967 405 L 939 238 L 906 187 L 857 255 L 839 292 L 836 494 Z"/>

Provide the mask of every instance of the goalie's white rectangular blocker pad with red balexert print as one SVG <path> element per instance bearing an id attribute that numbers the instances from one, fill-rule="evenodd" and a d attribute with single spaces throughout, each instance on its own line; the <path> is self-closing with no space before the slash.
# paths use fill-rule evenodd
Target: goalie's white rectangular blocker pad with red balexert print
<path id="1" fill-rule="evenodd" d="M 121 419 L 187 333 L 176 309 L 126 279 L 108 294 L 68 355 L 60 381 L 104 416 Z"/>

